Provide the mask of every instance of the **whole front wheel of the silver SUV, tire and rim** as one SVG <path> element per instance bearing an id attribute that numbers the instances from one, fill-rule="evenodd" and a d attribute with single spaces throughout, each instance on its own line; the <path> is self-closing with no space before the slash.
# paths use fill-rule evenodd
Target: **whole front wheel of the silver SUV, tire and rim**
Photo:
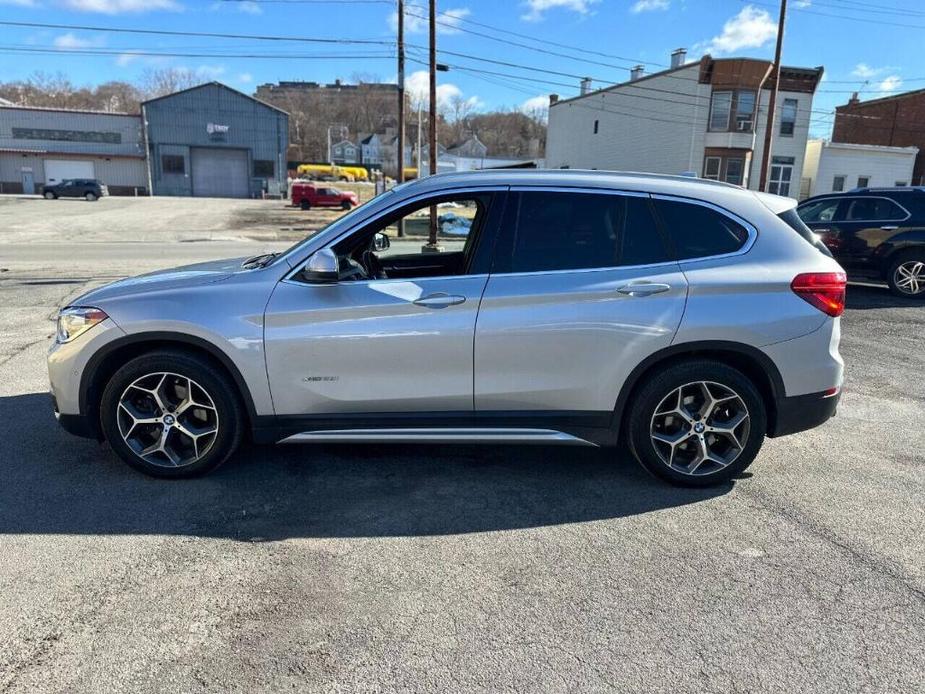
<path id="1" fill-rule="evenodd" d="M 116 454 L 152 477 L 214 470 L 238 447 L 244 426 L 228 377 L 179 352 L 145 354 L 116 371 L 103 391 L 100 418 Z"/>

